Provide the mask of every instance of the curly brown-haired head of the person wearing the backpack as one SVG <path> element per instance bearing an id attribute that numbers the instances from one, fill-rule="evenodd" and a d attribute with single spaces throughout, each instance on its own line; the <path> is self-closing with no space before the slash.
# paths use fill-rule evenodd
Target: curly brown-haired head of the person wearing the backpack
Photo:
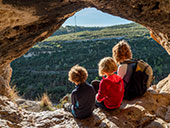
<path id="1" fill-rule="evenodd" d="M 112 48 L 112 56 L 118 64 L 125 60 L 132 59 L 130 45 L 125 40 L 119 41 L 119 43 Z"/>

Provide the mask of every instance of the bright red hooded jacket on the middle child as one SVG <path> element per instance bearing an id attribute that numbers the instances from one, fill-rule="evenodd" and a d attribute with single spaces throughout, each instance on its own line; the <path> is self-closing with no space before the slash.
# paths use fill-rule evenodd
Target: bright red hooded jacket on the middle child
<path id="1" fill-rule="evenodd" d="M 120 107 L 123 96 L 124 83 L 120 76 L 113 74 L 101 80 L 97 101 L 103 101 L 107 108 L 114 109 Z"/>

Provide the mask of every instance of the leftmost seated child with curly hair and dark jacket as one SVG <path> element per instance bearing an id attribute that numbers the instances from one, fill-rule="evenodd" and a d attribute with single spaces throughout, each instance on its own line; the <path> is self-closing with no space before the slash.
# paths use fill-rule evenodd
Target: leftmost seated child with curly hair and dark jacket
<path id="1" fill-rule="evenodd" d="M 95 90 L 86 82 L 87 70 L 81 66 L 73 66 L 68 73 L 69 81 L 75 84 L 71 93 L 72 104 L 65 104 L 64 108 L 70 111 L 74 117 L 82 119 L 89 117 L 95 105 Z"/>

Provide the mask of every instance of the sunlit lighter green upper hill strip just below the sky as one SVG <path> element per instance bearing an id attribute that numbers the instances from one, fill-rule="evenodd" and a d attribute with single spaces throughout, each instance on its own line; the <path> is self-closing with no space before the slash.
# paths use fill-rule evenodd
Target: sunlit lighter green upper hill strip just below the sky
<path id="1" fill-rule="evenodd" d="M 61 27 L 51 37 L 45 41 L 71 41 L 85 40 L 96 38 L 111 38 L 111 37 L 127 37 L 137 38 L 149 36 L 148 30 L 136 23 L 116 25 L 110 27 L 79 27 L 66 26 Z"/>

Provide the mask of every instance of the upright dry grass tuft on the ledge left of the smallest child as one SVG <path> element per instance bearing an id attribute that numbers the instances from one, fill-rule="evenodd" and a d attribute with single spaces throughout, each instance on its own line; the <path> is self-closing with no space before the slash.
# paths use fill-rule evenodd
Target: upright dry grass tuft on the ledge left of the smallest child
<path id="1" fill-rule="evenodd" d="M 52 102 L 50 101 L 47 93 L 44 93 L 42 98 L 41 98 L 41 101 L 40 101 L 40 107 L 43 109 L 43 110 L 50 110 L 50 111 L 53 111 L 53 105 L 52 105 Z"/>

